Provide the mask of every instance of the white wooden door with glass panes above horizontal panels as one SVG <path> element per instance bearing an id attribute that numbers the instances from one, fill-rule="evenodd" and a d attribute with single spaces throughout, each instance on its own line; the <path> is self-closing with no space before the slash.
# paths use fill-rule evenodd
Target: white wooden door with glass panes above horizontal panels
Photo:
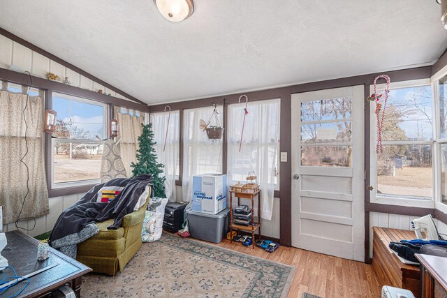
<path id="1" fill-rule="evenodd" d="M 292 246 L 364 261 L 364 87 L 292 95 Z"/>

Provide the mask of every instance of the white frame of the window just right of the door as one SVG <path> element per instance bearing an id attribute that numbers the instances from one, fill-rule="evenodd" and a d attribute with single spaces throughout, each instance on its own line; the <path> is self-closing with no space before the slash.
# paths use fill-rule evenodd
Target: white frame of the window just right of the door
<path id="1" fill-rule="evenodd" d="M 403 89 L 403 88 L 410 88 L 410 87 L 422 87 L 422 86 L 431 86 L 433 87 L 432 80 L 430 79 L 421 79 L 421 80 L 409 80 L 409 81 L 402 81 L 402 82 L 392 82 L 390 84 L 390 90 L 392 89 Z M 384 90 L 386 88 L 386 84 L 377 84 L 377 90 Z M 371 85 L 369 87 L 370 94 L 374 93 L 374 85 Z M 370 163 L 369 163 L 369 170 L 370 170 L 370 183 L 374 187 L 374 189 L 371 191 L 370 196 L 370 202 L 372 203 L 378 203 L 378 204 L 390 204 L 390 205 L 396 205 L 396 206 L 408 206 L 408 207 L 423 207 L 423 208 L 433 208 L 434 207 L 434 197 L 437 193 L 437 187 L 435 184 L 437 177 L 436 169 L 437 169 L 437 144 L 436 144 L 436 135 L 437 135 L 437 112 L 436 112 L 436 103 L 434 98 L 434 91 L 432 88 L 432 123 L 434 124 L 432 127 L 432 140 L 427 141 L 393 141 L 393 144 L 432 144 L 432 197 L 430 200 L 427 200 L 425 198 L 421 197 L 399 197 L 398 195 L 392 196 L 392 195 L 386 195 L 386 196 L 380 196 L 377 195 L 377 154 L 376 154 L 376 104 L 374 101 L 369 103 L 369 118 L 370 118 L 370 133 L 369 133 L 369 141 L 370 141 L 370 148 L 369 148 L 369 156 L 370 156 Z M 385 115 L 386 117 L 386 115 Z M 383 141 L 383 144 L 387 144 L 386 141 Z"/>

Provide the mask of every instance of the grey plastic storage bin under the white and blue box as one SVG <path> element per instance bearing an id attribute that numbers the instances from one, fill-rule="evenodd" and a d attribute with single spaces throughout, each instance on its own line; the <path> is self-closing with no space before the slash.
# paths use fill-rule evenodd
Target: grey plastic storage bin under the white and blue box
<path id="1" fill-rule="evenodd" d="M 226 208 L 218 214 L 205 214 L 186 210 L 189 234 L 191 237 L 219 243 L 226 237 L 230 226 L 230 209 Z"/>

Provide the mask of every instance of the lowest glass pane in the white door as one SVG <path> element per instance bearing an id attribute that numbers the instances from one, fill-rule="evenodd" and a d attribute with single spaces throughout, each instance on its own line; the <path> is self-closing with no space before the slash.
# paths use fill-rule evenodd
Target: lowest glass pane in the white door
<path id="1" fill-rule="evenodd" d="M 351 146 L 301 147 L 301 165 L 314 167 L 351 167 Z"/>

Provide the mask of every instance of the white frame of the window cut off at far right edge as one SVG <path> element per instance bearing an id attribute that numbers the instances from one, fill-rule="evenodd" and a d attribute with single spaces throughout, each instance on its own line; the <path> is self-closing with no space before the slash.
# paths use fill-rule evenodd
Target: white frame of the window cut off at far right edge
<path id="1" fill-rule="evenodd" d="M 441 117 L 440 117 L 440 109 L 439 107 L 439 96 L 438 96 L 438 82 L 442 77 L 445 77 L 447 75 L 447 66 L 444 66 L 441 70 L 439 70 L 437 73 L 435 73 L 431 77 L 432 82 L 432 92 L 434 96 L 434 123 L 436 126 L 434 137 L 435 137 L 435 163 L 434 167 L 435 169 L 435 178 L 434 179 L 434 208 L 444 212 L 447 214 L 447 204 L 442 202 L 442 175 L 441 175 L 441 144 L 447 144 L 447 138 L 441 139 Z"/>

